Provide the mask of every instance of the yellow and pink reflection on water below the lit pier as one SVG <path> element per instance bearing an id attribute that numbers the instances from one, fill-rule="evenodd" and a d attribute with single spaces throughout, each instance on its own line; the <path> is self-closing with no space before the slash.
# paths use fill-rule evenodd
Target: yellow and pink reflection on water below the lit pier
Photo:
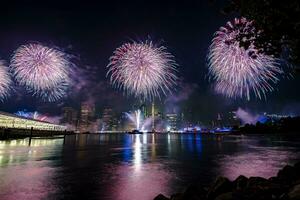
<path id="1" fill-rule="evenodd" d="M 28 144 L 28 139 L 0 141 L 0 199 L 45 199 L 55 190 L 51 177 L 56 169 L 46 159 L 63 140 L 33 139 Z"/>

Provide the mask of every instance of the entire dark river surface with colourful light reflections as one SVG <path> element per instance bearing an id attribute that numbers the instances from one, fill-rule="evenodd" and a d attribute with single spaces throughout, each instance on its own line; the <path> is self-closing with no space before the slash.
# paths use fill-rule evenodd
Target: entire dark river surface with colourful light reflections
<path id="1" fill-rule="evenodd" d="M 193 181 L 270 177 L 299 159 L 276 136 L 74 135 L 0 141 L 0 199 L 153 199 Z"/>

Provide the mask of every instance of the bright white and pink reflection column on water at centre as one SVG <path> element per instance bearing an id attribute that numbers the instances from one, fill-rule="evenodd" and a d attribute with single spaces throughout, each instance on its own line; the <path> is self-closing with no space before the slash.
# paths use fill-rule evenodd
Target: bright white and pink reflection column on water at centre
<path id="1" fill-rule="evenodd" d="M 112 199 L 153 199 L 157 191 L 168 193 L 171 172 L 165 170 L 162 163 L 143 163 L 143 159 L 147 159 L 147 135 L 134 135 L 132 139 L 132 164 L 116 166 L 118 178 L 114 184 L 117 187 L 113 187 Z"/>

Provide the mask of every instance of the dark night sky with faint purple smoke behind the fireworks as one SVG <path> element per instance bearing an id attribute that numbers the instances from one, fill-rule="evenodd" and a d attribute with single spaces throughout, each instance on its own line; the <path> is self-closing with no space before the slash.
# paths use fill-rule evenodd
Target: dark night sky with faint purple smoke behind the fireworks
<path id="1" fill-rule="evenodd" d="M 80 101 L 95 101 L 99 112 L 107 106 L 126 111 L 133 101 L 111 88 L 105 76 L 106 65 L 113 50 L 124 42 L 150 38 L 166 46 L 179 64 L 181 89 L 174 93 L 174 98 L 160 101 L 165 107 L 188 110 L 201 121 L 238 107 L 253 112 L 300 113 L 297 76 L 281 81 L 278 91 L 262 101 L 229 100 L 211 90 L 206 78 L 208 46 L 218 27 L 234 17 L 221 14 L 223 5 L 223 1 L 208 0 L 3 2 L 0 57 L 9 62 L 19 45 L 32 41 L 55 45 L 76 56 L 74 62 L 84 71 L 79 81 L 84 84 L 56 103 L 43 103 L 16 89 L 0 109 L 38 110 L 56 115 L 63 106 L 78 107 Z M 185 96 L 181 97 L 182 94 Z"/>

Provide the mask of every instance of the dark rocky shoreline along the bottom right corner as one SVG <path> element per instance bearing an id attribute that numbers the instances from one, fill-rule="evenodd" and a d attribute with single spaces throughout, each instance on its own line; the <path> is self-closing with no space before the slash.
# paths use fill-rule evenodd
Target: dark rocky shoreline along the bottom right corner
<path id="1" fill-rule="evenodd" d="M 277 176 L 262 177 L 239 176 L 234 181 L 218 177 L 209 187 L 192 184 L 184 192 L 170 198 L 159 194 L 154 200 L 300 200 L 300 162 L 287 165 L 279 170 Z"/>

